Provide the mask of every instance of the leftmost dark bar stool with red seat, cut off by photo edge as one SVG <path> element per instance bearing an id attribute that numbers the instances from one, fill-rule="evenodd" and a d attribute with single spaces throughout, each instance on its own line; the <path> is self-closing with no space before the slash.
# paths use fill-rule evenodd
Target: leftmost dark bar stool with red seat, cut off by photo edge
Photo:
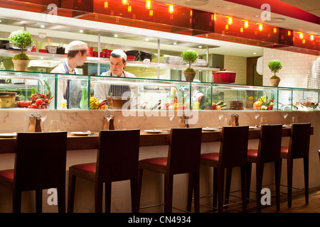
<path id="1" fill-rule="evenodd" d="M 31 190 L 41 213 L 42 190 L 49 188 L 57 188 L 58 211 L 65 213 L 66 151 L 67 132 L 17 133 L 14 170 L 0 171 L 0 184 L 13 191 L 14 213 L 21 212 L 21 192 Z"/>

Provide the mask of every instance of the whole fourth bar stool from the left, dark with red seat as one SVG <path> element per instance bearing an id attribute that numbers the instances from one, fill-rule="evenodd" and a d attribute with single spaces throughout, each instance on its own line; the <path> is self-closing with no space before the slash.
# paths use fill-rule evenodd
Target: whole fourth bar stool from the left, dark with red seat
<path id="1" fill-rule="evenodd" d="M 249 126 L 223 127 L 220 152 L 205 153 L 201 155 L 200 164 L 213 167 L 213 207 L 217 206 L 218 198 L 218 212 L 223 212 L 225 168 L 230 171 L 229 175 L 231 179 L 233 167 L 240 167 L 241 170 L 242 211 L 246 211 L 248 134 Z"/>

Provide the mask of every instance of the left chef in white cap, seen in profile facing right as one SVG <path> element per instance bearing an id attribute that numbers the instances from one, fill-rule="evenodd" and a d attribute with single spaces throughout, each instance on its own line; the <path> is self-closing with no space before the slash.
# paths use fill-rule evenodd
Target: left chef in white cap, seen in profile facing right
<path id="1" fill-rule="evenodd" d="M 67 49 L 67 59 L 55 67 L 51 73 L 78 74 L 76 67 L 82 66 L 87 60 L 87 43 L 76 40 L 69 43 Z M 55 99 L 57 99 L 58 109 L 62 108 L 63 99 L 67 100 L 68 109 L 71 106 L 78 107 L 81 99 L 80 82 L 78 80 L 58 79 L 58 93 L 55 94 Z"/>

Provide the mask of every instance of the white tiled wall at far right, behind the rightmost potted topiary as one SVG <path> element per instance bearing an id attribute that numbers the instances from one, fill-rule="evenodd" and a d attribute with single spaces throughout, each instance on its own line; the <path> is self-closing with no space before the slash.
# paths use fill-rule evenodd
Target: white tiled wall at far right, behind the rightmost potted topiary
<path id="1" fill-rule="evenodd" d="M 263 85 L 271 85 L 270 77 L 273 73 L 268 67 L 268 62 L 279 60 L 282 62 L 282 69 L 277 73 L 281 79 L 279 87 L 306 88 L 309 62 L 316 58 L 315 55 L 265 48 L 263 51 Z"/>

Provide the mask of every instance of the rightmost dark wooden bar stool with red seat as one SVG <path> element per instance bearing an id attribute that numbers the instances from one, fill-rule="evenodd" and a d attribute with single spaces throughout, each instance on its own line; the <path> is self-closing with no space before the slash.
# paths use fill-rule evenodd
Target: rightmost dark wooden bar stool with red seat
<path id="1" fill-rule="evenodd" d="M 293 123 L 289 147 L 281 148 L 281 160 L 287 159 L 287 191 L 288 206 L 292 206 L 292 172 L 293 160 L 303 158 L 304 160 L 304 194 L 306 204 L 309 202 L 309 144 L 310 144 L 311 123 Z"/>

